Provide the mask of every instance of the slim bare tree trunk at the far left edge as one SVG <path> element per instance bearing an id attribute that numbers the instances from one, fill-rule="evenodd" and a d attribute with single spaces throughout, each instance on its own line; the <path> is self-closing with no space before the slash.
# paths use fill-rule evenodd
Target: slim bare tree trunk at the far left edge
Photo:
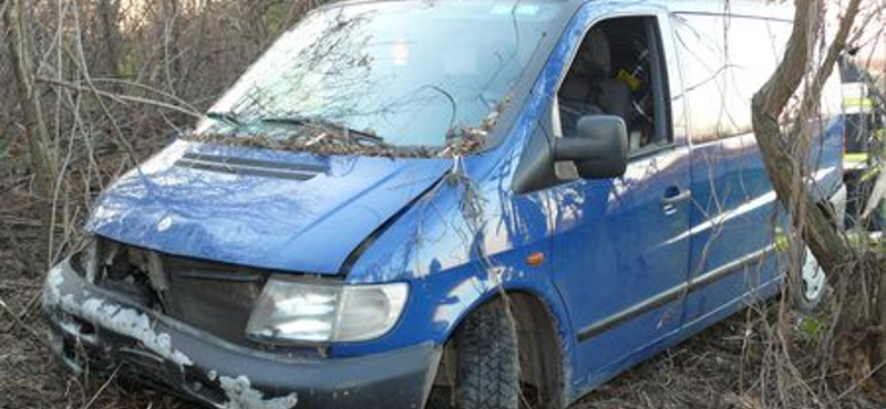
<path id="1" fill-rule="evenodd" d="M 43 112 L 40 98 L 34 86 L 34 72 L 31 62 L 31 44 L 29 33 L 23 21 L 23 10 L 20 0 L 8 0 L 3 21 L 9 29 L 7 46 L 16 73 L 24 129 L 28 138 L 28 150 L 31 157 L 31 168 L 37 181 L 37 203 L 40 211 L 41 244 L 38 249 L 39 260 L 49 266 L 52 251 L 50 249 L 52 235 L 52 191 L 58 175 L 56 166 L 50 154 L 50 137 L 43 122 Z"/>

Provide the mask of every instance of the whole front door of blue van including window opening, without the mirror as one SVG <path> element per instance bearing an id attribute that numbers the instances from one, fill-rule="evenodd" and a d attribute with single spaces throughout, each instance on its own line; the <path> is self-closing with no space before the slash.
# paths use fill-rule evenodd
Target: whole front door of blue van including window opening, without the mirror
<path id="1" fill-rule="evenodd" d="M 682 125 L 672 125 L 682 123 L 682 106 L 670 99 L 679 86 L 672 88 L 667 81 L 667 56 L 672 53 L 661 41 L 667 19 L 653 12 L 587 23 L 588 34 L 578 39 L 577 55 L 564 67 L 553 128 L 569 137 L 568 116 L 574 113 L 558 105 L 569 104 L 566 99 L 583 90 L 565 88 L 583 83 L 570 77 L 589 71 L 580 69 L 583 61 L 607 60 L 587 53 L 606 52 L 608 45 L 611 66 L 602 81 L 615 83 L 606 85 L 610 87 L 621 82 L 629 90 L 629 112 L 622 118 L 631 139 L 624 177 L 577 179 L 549 190 L 556 203 L 554 281 L 577 333 L 584 379 L 594 384 L 650 355 L 657 342 L 679 329 L 691 192 L 689 147 Z M 608 44 L 588 40 L 600 33 Z M 578 116 L 622 115 L 599 101 L 584 103 L 569 108 L 577 107 Z"/>

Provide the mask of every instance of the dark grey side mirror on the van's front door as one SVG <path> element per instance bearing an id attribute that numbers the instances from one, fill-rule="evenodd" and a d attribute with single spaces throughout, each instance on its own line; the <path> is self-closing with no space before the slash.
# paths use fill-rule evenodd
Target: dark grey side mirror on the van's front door
<path id="1" fill-rule="evenodd" d="M 557 138 L 554 160 L 571 160 L 585 179 L 615 178 L 628 167 L 628 130 L 625 120 L 612 115 L 589 115 L 578 119 L 576 135 Z"/>

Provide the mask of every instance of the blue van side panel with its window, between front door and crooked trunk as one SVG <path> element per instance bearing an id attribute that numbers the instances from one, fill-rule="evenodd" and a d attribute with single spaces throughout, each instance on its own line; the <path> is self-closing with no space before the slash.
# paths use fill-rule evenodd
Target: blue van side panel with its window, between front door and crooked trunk
<path id="1" fill-rule="evenodd" d="M 783 212 L 751 130 L 750 99 L 783 48 L 773 33 L 790 25 L 705 13 L 672 21 L 692 144 L 690 324 L 734 311 L 779 277 L 774 237 Z"/>

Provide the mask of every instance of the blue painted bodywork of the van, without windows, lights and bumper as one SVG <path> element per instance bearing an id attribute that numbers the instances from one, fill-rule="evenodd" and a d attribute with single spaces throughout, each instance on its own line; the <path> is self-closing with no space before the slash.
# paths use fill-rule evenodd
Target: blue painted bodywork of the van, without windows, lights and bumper
<path id="1" fill-rule="evenodd" d="M 453 159 L 320 156 L 177 141 L 105 191 L 87 229 L 133 245 L 219 262 L 308 274 L 343 274 L 352 284 L 409 282 L 398 325 L 371 340 L 331 346 L 333 357 L 361 356 L 424 342 L 445 343 L 478 305 L 497 295 L 491 269 L 507 291 L 537 297 L 556 319 L 565 348 L 567 396 L 593 387 L 662 348 L 738 311 L 751 296 L 772 295 L 774 258 L 670 300 L 579 342 L 583 329 L 679 287 L 773 242 L 783 216 L 753 135 L 692 145 L 676 129 L 673 145 L 631 161 L 625 177 L 576 180 L 516 195 L 511 185 L 528 139 L 550 109 L 562 72 L 595 21 L 619 2 L 578 8 L 558 40 L 540 49 L 545 64 L 513 96 L 496 133 L 501 144 Z M 635 3 L 657 12 L 648 3 Z M 670 36 L 664 38 L 672 57 Z M 670 65 L 670 62 L 668 63 Z M 682 84 L 670 72 L 674 117 Z M 842 120 L 828 118 L 811 161 L 833 169 L 821 195 L 842 174 Z M 186 153 L 317 165 L 309 180 L 228 175 L 175 166 Z M 480 216 L 465 216 L 470 180 Z M 663 214 L 670 189 L 690 189 L 693 204 Z M 392 221 L 382 230 L 385 222 Z M 378 237 L 342 271 L 370 234 Z M 546 262 L 528 266 L 529 254 Z"/>

